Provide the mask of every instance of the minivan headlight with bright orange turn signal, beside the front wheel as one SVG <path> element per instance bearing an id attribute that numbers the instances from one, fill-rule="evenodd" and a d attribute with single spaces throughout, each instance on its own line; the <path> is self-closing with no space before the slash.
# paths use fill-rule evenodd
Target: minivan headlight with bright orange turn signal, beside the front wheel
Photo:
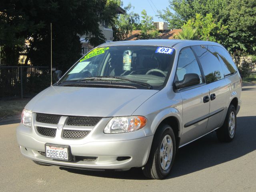
<path id="1" fill-rule="evenodd" d="M 147 118 L 143 116 L 113 117 L 106 127 L 104 133 L 125 133 L 143 128 Z"/>

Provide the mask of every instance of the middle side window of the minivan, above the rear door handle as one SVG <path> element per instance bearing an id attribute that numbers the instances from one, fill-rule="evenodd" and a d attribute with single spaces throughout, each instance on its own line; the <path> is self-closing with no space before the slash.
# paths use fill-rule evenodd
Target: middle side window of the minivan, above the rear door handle
<path id="1" fill-rule="evenodd" d="M 196 55 L 202 65 L 207 84 L 224 78 L 218 54 L 214 50 L 213 46 L 202 45 L 192 46 L 192 48 L 196 52 Z"/>

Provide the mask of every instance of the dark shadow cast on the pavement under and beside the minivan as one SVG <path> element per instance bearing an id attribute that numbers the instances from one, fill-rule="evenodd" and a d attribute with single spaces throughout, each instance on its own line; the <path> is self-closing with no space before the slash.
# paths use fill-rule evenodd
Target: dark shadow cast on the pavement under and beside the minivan
<path id="1" fill-rule="evenodd" d="M 230 143 L 218 142 L 215 132 L 179 149 L 168 178 L 175 178 L 228 162 L 256 150 L 256 116 L 237 117 L 236 137 Z M 104 178 L 146 180 L 141 168 L 124 172 L 87 171 L 60 168 L 76 174 Z"/>

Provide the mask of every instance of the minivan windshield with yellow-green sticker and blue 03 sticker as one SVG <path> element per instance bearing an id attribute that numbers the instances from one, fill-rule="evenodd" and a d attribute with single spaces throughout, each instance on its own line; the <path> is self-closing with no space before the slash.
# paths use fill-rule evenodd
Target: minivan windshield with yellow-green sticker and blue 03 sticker
<path id="1" fill-rule="evenodd" d="M 160 87 L 170 74 L 174 55 L 174 48 L 160 46 L 95 48 L 72 66 L 58 84 L 102 80 Z"/>

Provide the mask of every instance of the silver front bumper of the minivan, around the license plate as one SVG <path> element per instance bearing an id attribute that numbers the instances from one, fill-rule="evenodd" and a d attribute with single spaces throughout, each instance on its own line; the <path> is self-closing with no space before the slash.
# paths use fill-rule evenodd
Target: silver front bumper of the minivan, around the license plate
<path id="1" fill-rule="evenodd" d="M 86 136 L 88 137 L 88 140 L 85 139 L 84 143 L 69 143 L 69 140 L 67 140 L 65 144 L 70 146 L 73 156 L 89 156 L 97 158 L 92 161 L 76 160 L 65 162 L 52 160 L 42 155 L 42 152 L 45 151 L 44 145 L 49 141 L 44 141 L 44 138 L 38 139 L 38 136 L 34 135 L 33 131 L 24 131 L 28 129 L 30 128 L 20 124 L 16 131 L 17 142 L 20 145 L 22 155 L 31 160 L 45 164 L 81 169 L 128 169 L 144 166 L 147 162 L 153 140 L 153 136 L 144 136 L 132 140 L 113 140 L 112 138 L 111 140 L 100 139 L 97 141 L 90 139 L 89 135 Z M 126 133 L 123 133 L 122 136 L 124 134 Z M 136 132 L 129 134 L 136 134 Z M 115 136 L 118 137 L 118 134 L 115 134 Z M 63 141 L 58 142 L 58 140 L 52 140 L 51 143 L 64 144 Z M 127 156 L 130 158 L 125 160 L 118 159 L 118 157 Z"/>

